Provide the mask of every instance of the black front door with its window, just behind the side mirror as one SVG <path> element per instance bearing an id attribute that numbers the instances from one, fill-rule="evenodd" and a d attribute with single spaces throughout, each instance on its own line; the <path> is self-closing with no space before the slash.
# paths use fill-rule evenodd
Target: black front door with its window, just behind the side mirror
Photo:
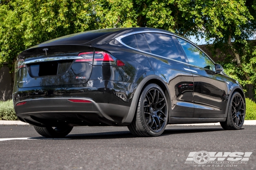
<path id="1" fill-rule="evenodd" d="M 177 38 L 183 47 L 194 77 L 194 117 L 223 117 L 226 109 L 225 83 L 215 72 L 214 62 L 199 48 Z"/>

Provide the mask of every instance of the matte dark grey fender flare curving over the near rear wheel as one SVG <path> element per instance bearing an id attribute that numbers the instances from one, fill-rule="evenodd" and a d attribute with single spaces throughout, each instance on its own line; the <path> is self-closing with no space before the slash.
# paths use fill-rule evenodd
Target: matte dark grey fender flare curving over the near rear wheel
<path id="1" fill-rule="evenodd" d="M 138 85 L 135 93 L 134 93 L 134 96 L 133 96 L 133 100 L 131 102 L 131 107 L 129 109 L 129 113 L 125 119 L 124 122 L 122 122 L 121 124 L 122 125 L 129 125 L 132 120 L 133 120 L 133 117 L 134 117 L 134 114 L 135 114 L 135 111 L 136 111 L 136 108 L 137 108 L 137 103 L 138 103 L 138 100 L 139 100 L 139 97 L 140 97 L 140 94 L 141 94 L 141 91 L 142 91 L 142 88 L 144 87 L 144 85 L 152 80 L 152 79 L 157 79 L 159 81 L 162 82 L 162 84 L 165 86 L 166 90 L 167 90 L 167 93 L 168 93 L 168 96 L 166 96 L 168 102 L 169 102 L 169 113 L 170 113 L 170 106 L 171 106 L 171 97 L 170 97 L 170 91 L 169 91 L 169 88 L 167 87 L 166 85 L 166 82 L 163 81 L 160 77 L 158 77 L 157 75 L 148 75 L 147 77 L 145 77 L 141 82 L 140 84 Z"/>

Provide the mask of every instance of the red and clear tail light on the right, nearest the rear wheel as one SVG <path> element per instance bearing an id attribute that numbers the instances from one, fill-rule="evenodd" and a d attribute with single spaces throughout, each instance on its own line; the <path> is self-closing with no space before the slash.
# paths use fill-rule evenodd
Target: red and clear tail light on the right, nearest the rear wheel
<path id="1" fill-rule="evenodd" d="M 103 52 L 103 51 L 95 51 L 95 52 L 82 52 L 79 53 L 78 56 L 84 57 L 84 59 L 76 59 L 77 62 L 87 62 L 93 65 L 104 65 L 104 66 L 124 66 L 125 64 L 118 60 L 115 56 Z"/>

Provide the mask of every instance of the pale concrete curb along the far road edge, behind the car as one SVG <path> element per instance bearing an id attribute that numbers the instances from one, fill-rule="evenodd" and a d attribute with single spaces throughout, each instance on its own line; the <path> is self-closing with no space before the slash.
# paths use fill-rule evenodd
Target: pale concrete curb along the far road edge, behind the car
<path id="1" fill-rule="evenodd" d="M 29 125 L 19 120 L 0 120 L 0 125 Z M 219 123 L 170 124 L 171 126 L 217 126 Z M 256 120 L 245 120 L 244 125 L 256 125 Z"/>

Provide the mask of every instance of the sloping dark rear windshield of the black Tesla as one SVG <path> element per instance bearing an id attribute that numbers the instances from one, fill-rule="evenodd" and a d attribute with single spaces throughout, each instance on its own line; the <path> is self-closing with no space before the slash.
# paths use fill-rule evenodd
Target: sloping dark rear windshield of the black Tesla
<path id="1" fill-rule="evenodd" d="M 84 44 L 93 39 L 101 37 L 103 35 L 109 34 L 111 32 L 115 32 L 121 30 L 122 28 L 117 29 L 102 29 L 102 30 L 92 30 L 92 31 L 85 31 L 81 33 L 66 35 L 63 37 L 59 37 L 56 39 L 52 39 L 49 41 L 45 41 L 34 47 L 42 47 L 42 46 L 50 46 L 50 45 L 62 45 L 62 44 Z M 33 48 L 34 48 L 33 47 Z"/>

